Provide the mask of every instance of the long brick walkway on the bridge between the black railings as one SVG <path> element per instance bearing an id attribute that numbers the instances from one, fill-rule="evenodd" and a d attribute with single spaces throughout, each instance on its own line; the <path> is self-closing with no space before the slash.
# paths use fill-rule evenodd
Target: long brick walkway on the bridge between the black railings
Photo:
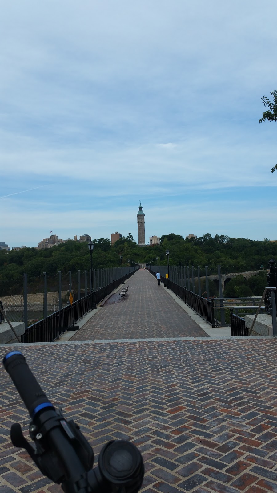
<path id="1" fill-rule="evenodd" d="M 139 270 L 126 285 L 126 300 L 104 305 L 71 341 L 208 337 L 147 271 Z"/>

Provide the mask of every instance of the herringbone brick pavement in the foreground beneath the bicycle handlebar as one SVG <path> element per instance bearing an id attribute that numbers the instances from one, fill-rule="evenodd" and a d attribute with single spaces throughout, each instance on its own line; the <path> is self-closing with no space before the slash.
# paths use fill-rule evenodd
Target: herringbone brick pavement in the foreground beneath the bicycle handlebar
<path id="1" fill-rule="evenodd" d="M 130 438 L 145 493 L 277 492 L 277 340 L 196 340 L 24 346 L 41 387 L 79 423 L 96 454 Z M 1 347 L 1 357 L 6 348 Z M 60 492 L 11 423 L 28 415 L 0 375 L 0 493 Z"/>

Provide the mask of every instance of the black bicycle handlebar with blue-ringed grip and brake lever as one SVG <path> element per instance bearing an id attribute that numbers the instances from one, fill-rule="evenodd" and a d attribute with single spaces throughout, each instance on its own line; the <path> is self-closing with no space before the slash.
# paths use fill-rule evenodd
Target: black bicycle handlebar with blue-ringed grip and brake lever
<path id="1" fill-rule="evenodd" d="M 67 422 L 56 411 L 39 386 L 20 351 L 3 358 L 10 375 L 31 416 L 29 433 L 35 449 L 24 438 L 19 423 L 11 426 L 15 447 L 27 450 L 42 474 L 62 484 L 66 493 L 137 493 L 141 487 L 144 465 L 135 445 L 125 440 L 111 440 L 102 449 L 98 467 L 93 469 L 93 450 L 79 426 Z"/>

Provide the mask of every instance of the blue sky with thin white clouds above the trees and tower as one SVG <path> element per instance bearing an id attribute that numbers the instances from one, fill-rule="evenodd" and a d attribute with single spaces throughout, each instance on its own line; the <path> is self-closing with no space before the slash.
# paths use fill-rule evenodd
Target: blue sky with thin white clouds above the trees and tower
<path id="1" fill-rule="evenodd" d="M 0 16 L 0 241 L 277 239 L 273 0 L 15 0 Z"/>

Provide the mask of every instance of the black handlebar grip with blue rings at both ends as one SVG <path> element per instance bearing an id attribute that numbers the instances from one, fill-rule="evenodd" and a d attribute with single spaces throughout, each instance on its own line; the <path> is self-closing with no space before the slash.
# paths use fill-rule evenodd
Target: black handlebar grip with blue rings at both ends
<path id="1" fill-rule="evenodd" d="M 8 352 L 3 358 L 3 365 L 17 388 L 32 419 L 34 419 L 37 412 L 44 408 L 54 409 L 20 351 Z"/>

